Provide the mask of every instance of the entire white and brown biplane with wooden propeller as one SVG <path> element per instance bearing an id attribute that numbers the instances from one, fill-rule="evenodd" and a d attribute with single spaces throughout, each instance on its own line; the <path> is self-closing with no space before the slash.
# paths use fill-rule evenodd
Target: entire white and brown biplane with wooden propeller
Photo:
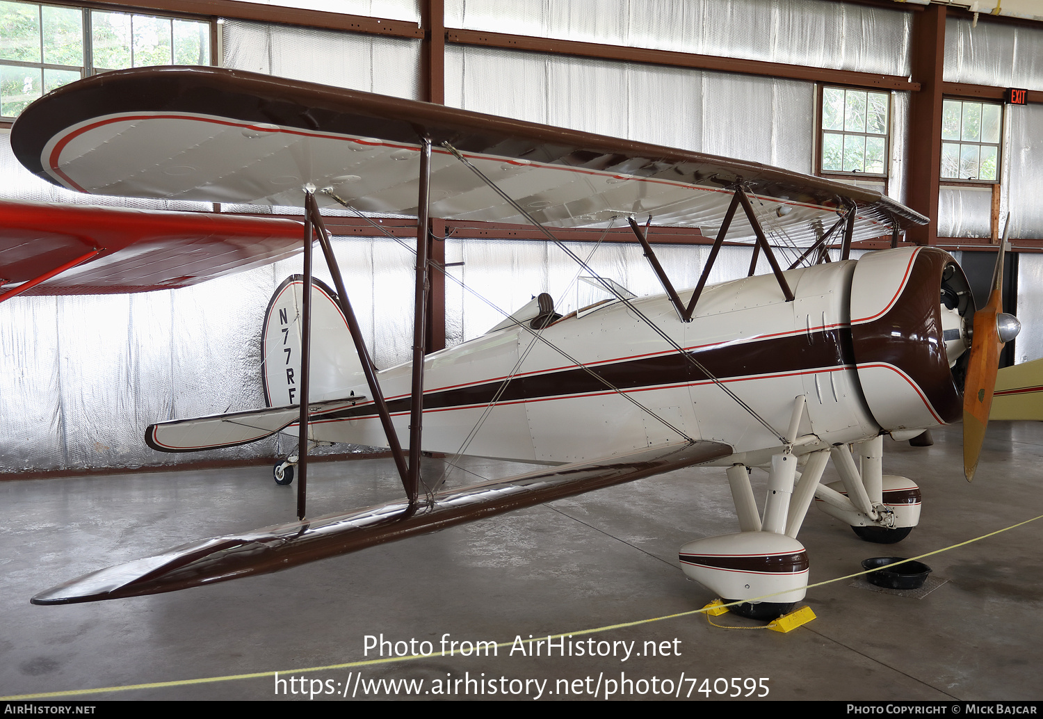
<path id="1" fill-rule="evenodd" d="M 882 436 L 964 421 L 977 465 L 997 353 L 1019 325 L 977 307 L 959 264 L 897 247 L 927 221 L 865 188 L 500 117 L 216 68 L 105 73 L 24 111 L 11 131 L 32 172 L 88 193 L 304 205 L 304 273 L 264 317 L 266 408 L 149 427 L 164 452 L 291 432 L 298 519 L 92 572 L 32 601 L 60 604 L 199 586 L 692 465 L 726 468 L 738 531 L 680 549 L 684 572 L 754 617 L 803 598 L 798 533 L 812 502 L 873 542 L 919 520 L 916 483 L 882 474 Z M 417 217 L 413 360 L 378 368 L 362 341 L 322 208 Z M 611 296 L 575 312 L 541 294 L 486 334 L 423 355 L 431 217 L 529 222 Z M 635 297 L 555 237 L 629 218 L 663 287 Z M 714 244 L 698 285 L 675 289 L 646 223 Z M 851 243 L 892 248 L 850 259 Z M 321 247 L 334 287 L 312 280 Z M 708 285 L 722 244 L 754 246 L 750 277 Z M 780 243 L 800 248 L 783 268 Z M 839 261 L 827 248 L 840 247 Z M 757 255 L 772 272 L 754 275 Z M 1002 253 L 1000 253 L 1002 256 Z M 435 269 L 438 269 L 437 267 Z M 310 442 L 389 447 L 405 498 L 321 518 L 305 510 Z M 420 452 L 548 465 L 439 489 Z M 832 460 L 842 479 L 824 485 Z M 769 472 L 758 511 L 749 468 Z"/>

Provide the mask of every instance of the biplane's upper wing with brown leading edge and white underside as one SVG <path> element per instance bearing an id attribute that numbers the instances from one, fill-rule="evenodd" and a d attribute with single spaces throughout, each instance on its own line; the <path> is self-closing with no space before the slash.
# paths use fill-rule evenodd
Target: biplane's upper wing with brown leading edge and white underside
<path id="1" fill-rule="evenodd" d="M 447 141 L 550 225 L 651 214 L 715 233 L 736 185 L 756 195 L 768 230 L 799 244 L 851 202 L 854 239 L 927 221 L 873 190 L 756 163 L 219 68 L 66 86 L 22 113 L 11 146 L 32 172 L 83 192 L 295 206 L 313 185 L 361 211 L 415 215 L 425 136 L 435 217 L 524 221 L 440 146 Z M 735 222 L 728 239 L 752 237 Z"/>

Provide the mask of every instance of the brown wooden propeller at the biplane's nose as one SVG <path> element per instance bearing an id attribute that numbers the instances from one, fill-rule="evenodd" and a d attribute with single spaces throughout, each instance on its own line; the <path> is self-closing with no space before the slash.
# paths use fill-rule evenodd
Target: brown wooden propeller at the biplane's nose
<path id="1" fill-rule="evenodd" d="M 1008 215 L 1003 240 L 992 271 L 989 302 L 974 313 L 971 354 L 964 383 L 964 476 L 968 482 L 974 479 L 977 471 L 986 428 L 989 426 L 992 394 L 996 388 L 996 374 L 999 372 L 999 351 L 1020 329 L 1017 318 L 1003 313 L 1003 253 L 1010 227 L 1011 218 Z M 1002 333 L 1000 325 L 1004 326 Z"/>

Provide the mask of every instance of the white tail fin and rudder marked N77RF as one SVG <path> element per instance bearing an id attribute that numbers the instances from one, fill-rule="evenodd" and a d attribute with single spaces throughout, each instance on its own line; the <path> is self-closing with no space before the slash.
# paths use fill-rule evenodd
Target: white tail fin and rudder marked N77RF
<path id="1" fill-rule="evenodd" d="M 366 380 L 347 321 L 335 299 L 336 293 L 318 280 L 313 282 L 308 399 L 309 402 L 321 402 L 347 397 L 348 390 L 364 385 Z M 271 295 L 265 312 L 261 374 L 264 378 L 264 399 L 269 407 L 300 403 L 304 286 L 301 274 L 284 280 Z"/>

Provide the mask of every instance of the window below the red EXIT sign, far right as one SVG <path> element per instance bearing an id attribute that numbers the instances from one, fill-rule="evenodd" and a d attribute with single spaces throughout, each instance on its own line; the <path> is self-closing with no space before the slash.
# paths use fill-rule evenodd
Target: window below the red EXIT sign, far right
<path id="1" fill-rule="evenodd" d="M 999 182 L 1003 106 L 942 101 L 942 179 Z"/>

